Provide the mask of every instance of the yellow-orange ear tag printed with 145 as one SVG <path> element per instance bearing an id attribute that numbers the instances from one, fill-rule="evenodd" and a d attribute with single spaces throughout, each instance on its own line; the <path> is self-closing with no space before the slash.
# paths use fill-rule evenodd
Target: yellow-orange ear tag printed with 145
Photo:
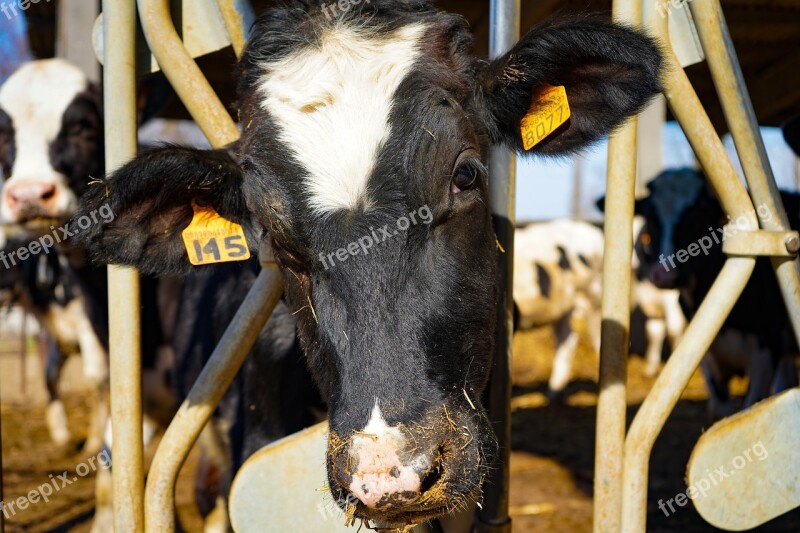
<path id="1" fill-rule="evenodd" d="M 211 207 L 192 202 L 194 217 L 183 230 L 183 244 L 193 265 L 213 265 L 250 259 L 250 249 L 239 224 L 222 218 Z"/>

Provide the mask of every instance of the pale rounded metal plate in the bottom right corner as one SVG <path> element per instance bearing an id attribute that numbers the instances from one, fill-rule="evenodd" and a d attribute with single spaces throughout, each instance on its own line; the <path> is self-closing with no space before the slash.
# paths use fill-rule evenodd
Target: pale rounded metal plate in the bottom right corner
<path id="1" fill-rule="evenodd" d="M 728 531 L 752 529 L 800 507 L 800 389 L 703 434 L 689 459 L 687 484 L 672 507 L 688 497 L 709 524 Z"/>

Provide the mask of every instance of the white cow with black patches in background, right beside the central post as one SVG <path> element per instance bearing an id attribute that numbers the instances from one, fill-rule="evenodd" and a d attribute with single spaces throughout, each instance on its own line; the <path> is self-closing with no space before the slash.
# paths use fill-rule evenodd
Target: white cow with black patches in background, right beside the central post
<path id="1" fill-rule="evenodd" d="M 514 304 L 519 329 L 553 326 L 556 354 L 548 396 L 558 400 L 572 375 L 579 335 L 587 327 L 600 349 L 603 232 L 588 222 L 554 220 L 518 229 L 514 236 Z"/>

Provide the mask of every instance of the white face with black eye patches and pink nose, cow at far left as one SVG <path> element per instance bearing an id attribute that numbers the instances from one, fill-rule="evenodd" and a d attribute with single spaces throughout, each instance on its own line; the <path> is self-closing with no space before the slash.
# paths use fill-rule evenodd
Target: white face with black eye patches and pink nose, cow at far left
<path id="1" fill-rule="evenodd" d="M 103 174 L 99 92 L 61 60 L 21 67 L 0 87 L 0 215 L 29 229 L 67 220 Z"/>

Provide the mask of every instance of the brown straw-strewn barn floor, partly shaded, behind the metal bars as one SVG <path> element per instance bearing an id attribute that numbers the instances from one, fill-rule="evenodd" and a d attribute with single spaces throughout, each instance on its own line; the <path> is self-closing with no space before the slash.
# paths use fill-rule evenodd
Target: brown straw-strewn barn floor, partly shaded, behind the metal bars
<path id="1" fill-rule="evenodd" d="M 18 341 L 0 341 L 0 352 L 15 350 Z M 44 419 L 46 394 L 35 347 L 29 346 L 25 363 L 27 391 L 21 389 L 21 358 L 0 356 L 0 397 L 5 500 L 11 501 L 48 482 L 50 474 L 64 470 L 75 477 L 77 465 L 87 460 L 76 445 L 57 449 L 47 435 Z M 551 332 L 523 332 L 514 341 L 513 447 L 511 505 L 515 532 L 591 531 L 592 469 L 596 413 L 596 356 L 582 346 L 576 376 L 564 404 L 547 405 L 543 394 L 553 351 Z M 643 364 L 633 357 L 629 365 L 629 417 L 632 417 L 653 380 L 644 379 Z M 81 384 L 80 361 L 68 362 L 64 400 L 72 427 L 85 431 L 91 396 Z M 739 392 L 745 383 L 736 384 Z M 681 533 L 716 531 L 703 522 L 691 506 L 666 517 L 659 499 L 674 498 L 685 490 L 683 472 L 692 446 L 706 424 L 705 389 L 696 374 L 656 443 L 650 468 L 648 531 Z M 79 435 L 80 437 L 80 435 Z M 193 453 L 179 480 L 179 517 L 185 531 L 201 531 L 192 504 Z M 63 488 L 50 502 L 19 511 L 6 531 L 88 532 L 94 509 L 93 473 Z M 800 531 L 800 512 L 795 511 L 759 528 L 763 532 Z"/>

